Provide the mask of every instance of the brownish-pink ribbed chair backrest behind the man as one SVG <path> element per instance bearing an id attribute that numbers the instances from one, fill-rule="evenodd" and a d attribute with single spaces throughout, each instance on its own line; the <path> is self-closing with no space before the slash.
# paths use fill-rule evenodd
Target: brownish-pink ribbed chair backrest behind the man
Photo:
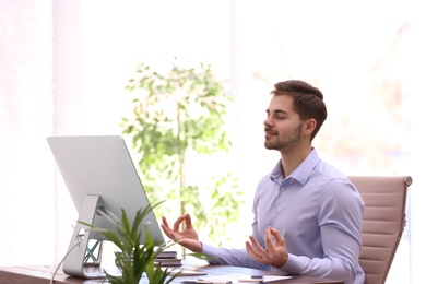
<path id="1" fill-rule="evenodd" d="M 350 176 L 365 202 L 359 263 L 366 284 L 383 284 L 405 227 L 409 176 Z"/>

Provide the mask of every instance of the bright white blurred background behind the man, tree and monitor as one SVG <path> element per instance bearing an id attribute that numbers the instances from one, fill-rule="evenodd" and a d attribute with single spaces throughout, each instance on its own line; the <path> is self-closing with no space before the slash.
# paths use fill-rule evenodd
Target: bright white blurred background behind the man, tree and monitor
<path id="1" fill-rule="evenodd" d="M 387 283 L 422 283 L 425 9 L 421 0 L 0 0 L 0 265 L 55 264 L 68 249 L 76 213 L 46 138 L 121 134 L 135 66 L 168 69 L 177 57 L 211 63 L 234 97 L 233 149 L 209 170 L 229 162 L 247 212 L 280 158 L 263 147 L 273 84 L 318 86 L 329 109 L 313 141 L 323 159 L 347 175 L 413 177 Z"/>

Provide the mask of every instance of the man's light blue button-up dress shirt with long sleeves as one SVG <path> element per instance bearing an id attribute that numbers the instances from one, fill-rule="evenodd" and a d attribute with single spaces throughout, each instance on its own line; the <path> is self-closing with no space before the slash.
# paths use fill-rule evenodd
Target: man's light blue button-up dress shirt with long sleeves
<path id="1" fill-rule="evenodd" d="M 256 190 L 252 235 L 265 247 L 268 226 L 284 236 L 288 260 L 281 268 L 292 274 L 365 282 L 358 258 L 362 247 L 364 201 L 341 171 L 321 161 L 313 149 L 284 179 L 281 161 Z M 203 244 L 211 263 L 275 268 L 250 259 L 246 248 L 226 249 Z"/>

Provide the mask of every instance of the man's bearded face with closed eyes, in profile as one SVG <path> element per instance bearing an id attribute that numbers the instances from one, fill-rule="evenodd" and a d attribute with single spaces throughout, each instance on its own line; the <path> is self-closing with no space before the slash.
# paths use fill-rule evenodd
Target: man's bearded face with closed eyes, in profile
<path id="1" fill-rule="evenodd" d="M 274 95 L 267 109 L 264 146 L 270 150 L 288 151 L 303 138 L 303 121 L 293 110 L 293 97 Z"/>

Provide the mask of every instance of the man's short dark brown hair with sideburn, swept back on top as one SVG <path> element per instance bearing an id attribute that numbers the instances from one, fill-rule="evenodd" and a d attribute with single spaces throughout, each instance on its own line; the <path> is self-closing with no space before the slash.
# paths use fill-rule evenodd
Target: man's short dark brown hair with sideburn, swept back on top
<path id="1" fill-rule="evenodd" d="M 279 82 L 274 87 L 271 94 L 293 97 L 293 109 L 301 120 L 313 118 L 317 121 L 317 127 L 310 137 L 310 140 L 313 140 L 327 119 L 327 107 L 321 91 L 299 80 Z"/>

